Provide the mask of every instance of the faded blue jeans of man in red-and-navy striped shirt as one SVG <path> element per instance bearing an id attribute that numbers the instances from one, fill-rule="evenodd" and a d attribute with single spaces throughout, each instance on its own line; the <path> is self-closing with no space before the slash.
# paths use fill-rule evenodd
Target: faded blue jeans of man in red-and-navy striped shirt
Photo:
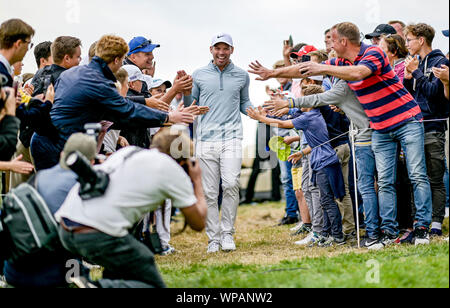
<path id="1" fill-rule="evenodd" d="M 397 141 L 400 142 L 406 157 L 409 178 L 413 186 L 417 209 L 415 228 L 428 229 L 432 219 L 431 186 L 425 161 L 424 127 L 422 123 L 410 122 L 394 131 L 372 136 L 372 149 L 378 170 L 379 204 L 381 230 L 398 235 L 396 174 Z"/>

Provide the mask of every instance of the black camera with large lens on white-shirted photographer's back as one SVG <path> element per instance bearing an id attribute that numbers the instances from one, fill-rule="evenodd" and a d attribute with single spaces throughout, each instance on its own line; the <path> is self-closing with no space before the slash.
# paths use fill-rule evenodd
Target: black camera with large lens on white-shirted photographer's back
<path id="1" fill-rule="evenodd" d="M 109 175 L 94 170 L 89 160 L 80 152 L 72 152 L 66 157 L 66 165 L 78 175 L 79 195 L 82 200 L 91 200 L 103 196 L 109 185 Z"/>

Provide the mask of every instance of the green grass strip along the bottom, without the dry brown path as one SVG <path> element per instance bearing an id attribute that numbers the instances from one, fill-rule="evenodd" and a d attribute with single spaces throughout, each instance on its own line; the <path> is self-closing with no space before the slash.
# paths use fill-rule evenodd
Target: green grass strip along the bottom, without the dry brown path
<path id="1" fill-rule="evenodd" d="M 366 280 L 380 265 L 379 283 Z M 161 267 L 171 288 L 448 288 L 448 244 L 391 248 L 376 253 L 303 258 L 270 266 L 225 264 Z"/>

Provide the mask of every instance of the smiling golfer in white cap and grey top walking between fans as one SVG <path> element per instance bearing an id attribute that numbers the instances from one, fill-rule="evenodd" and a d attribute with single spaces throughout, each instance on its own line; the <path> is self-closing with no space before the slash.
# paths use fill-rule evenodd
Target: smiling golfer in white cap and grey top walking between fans
<path id="1" fill-rule="evenodd" d="M 241 112 L 246 115 L 246 109 L 253 106 L 249 98 L 250 77 L 230 60 L 234 52 L 231 36 L 215 35 L 210 51 L 213 60 L 194 72 L 192 96 L 186 97 L 185 103 L 196 100 L 199 106 L 210 108 L 209 113 L 197 119 L 194 138 L 208 203 L 208 253 L 215 253 L 220 249 L 236 250 L 233 234 L 242 166 Z M 221 219 L 220 180 L 223 188 Z"/>

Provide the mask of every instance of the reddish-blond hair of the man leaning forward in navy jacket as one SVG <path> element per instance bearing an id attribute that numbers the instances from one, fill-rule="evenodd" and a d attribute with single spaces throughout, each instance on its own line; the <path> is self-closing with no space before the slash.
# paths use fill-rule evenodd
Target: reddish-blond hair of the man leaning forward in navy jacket
<path id="1" fill-rule="evenodd" d="M 95 46 L 95 55 L 106 63 L 112 63 L 116 58 L 124 57 L 129 51 L 125 40 L 115 35 L 103 36 Z"/>

